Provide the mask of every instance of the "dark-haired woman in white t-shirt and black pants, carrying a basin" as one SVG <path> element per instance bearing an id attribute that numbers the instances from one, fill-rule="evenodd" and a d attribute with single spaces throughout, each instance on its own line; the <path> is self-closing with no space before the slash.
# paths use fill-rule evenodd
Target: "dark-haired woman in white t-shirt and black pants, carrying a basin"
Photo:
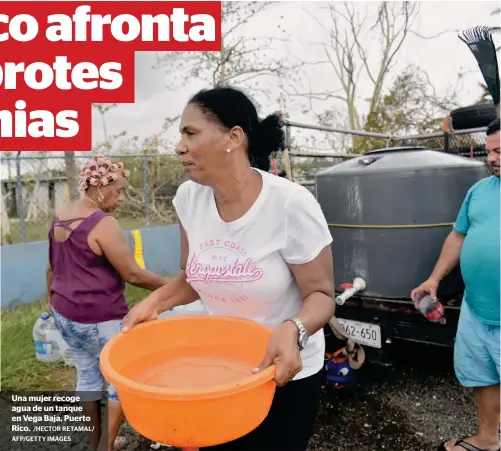
<path id="1" fill-rule="evenodd" d="M 254 370 L 276 364 L 279 388 L 268 417 L 247 436 L 210 449 L 305 451 L 322 383 L 323 327 L 335 306 L 327 222 L 306 188 L 268 172 L 271 153 L 283 146 L 281 120 L 260 121 L 241 91 L 199 92 L 180 131 L 176 151 L 190 178 L 173 201 L 181 272 L 130 311 L 123 331 L 199 298 L 211 315 L 272 327 Z"/>

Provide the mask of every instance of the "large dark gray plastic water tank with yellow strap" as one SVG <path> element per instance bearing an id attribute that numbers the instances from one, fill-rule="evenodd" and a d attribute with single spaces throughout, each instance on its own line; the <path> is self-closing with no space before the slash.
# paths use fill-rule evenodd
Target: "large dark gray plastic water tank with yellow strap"
<path id="1" fill-rule="evenodd" d="M 419 147 L 368 152 L 317 173 L 336 290 L 362 277 L 361 296 L 409 298 L 431 274 L 468 189 L 488 175 L 483 162 Z M 456 269 L 439 295 L 463 289 Z"/>

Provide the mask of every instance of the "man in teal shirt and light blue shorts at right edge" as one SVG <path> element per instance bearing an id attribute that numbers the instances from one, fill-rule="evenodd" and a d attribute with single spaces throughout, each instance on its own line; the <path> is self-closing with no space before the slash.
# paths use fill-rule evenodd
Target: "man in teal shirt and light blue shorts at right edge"
<path id="1" fill-rule="evenodd" d="M 443 443 L 439 449 L 447 451 L 500 449 L 499 140 L 498 118 L 487 129 L 493 175 L 470 188 L 433 273 L 411 293 L 415 303 L 428 293 L 436 299 L 440 281 L 460 264 L 466 289 L 454 345 L 454 369 L 463 386 L 474 388 L 478 432 Z"/>

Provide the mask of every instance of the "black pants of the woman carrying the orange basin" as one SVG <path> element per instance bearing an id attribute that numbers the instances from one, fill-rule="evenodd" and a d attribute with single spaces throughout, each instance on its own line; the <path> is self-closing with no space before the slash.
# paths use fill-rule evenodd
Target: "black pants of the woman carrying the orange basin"
<path id="1" fill-rule="evenodd" d="M 277 388 L 266 419 L 250 434 L 201 451 L 306 451 L 313 434 L 322 371 Z"/>

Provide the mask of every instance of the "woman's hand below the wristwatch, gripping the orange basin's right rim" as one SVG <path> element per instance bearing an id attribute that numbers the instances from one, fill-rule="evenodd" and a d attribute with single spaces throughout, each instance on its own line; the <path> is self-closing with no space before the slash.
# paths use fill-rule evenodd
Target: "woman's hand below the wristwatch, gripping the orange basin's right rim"
<path id="1" fill-rule="evenodd" d="M 275 364 L 275 382 L 283 387 L 303 369 L 299 354 L 299 331 L 294 323 L 286 321 L 270 338 L 266 355 L 261 364 L 252 370 L 254 374 Z"/>

